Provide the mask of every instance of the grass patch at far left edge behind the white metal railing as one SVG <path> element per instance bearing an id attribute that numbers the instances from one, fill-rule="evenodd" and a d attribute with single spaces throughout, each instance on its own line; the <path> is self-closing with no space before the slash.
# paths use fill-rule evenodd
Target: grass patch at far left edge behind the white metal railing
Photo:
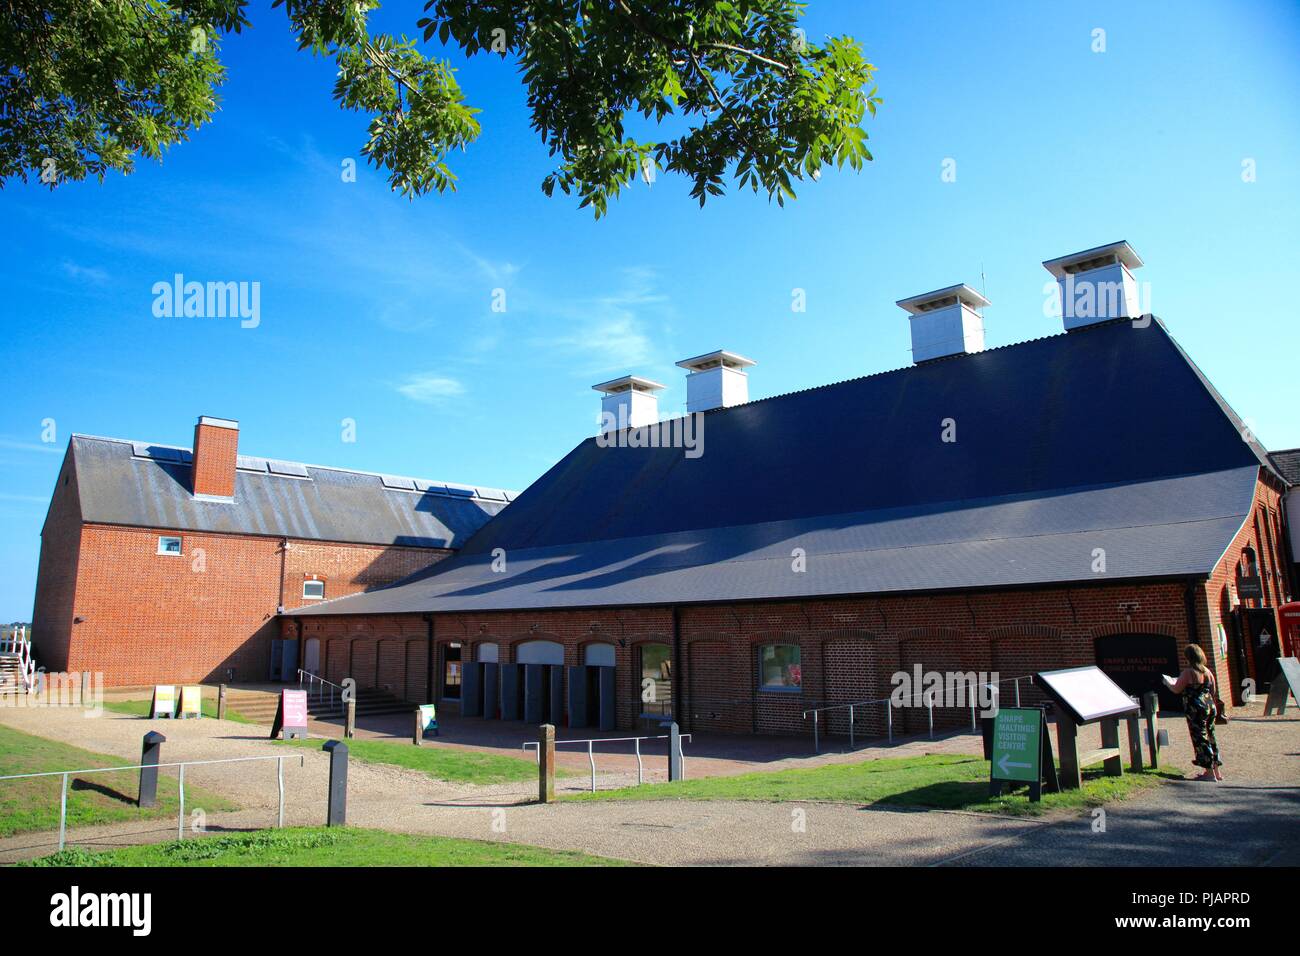
<path id="1" fill-rule="evenodd" d="M 164 749 L 162 760 L 165 761 Z M 91 753 L 56 740 L 46 740 L 0 724 L 0 777 L 36 774 L 46 770 L 82 770 L 113 767 L 129 760 L 104 753 Z M 36 777 L 25 780 L 0 780 L 0 836 L 32 830 L 58 829 L 58 793 L 61 777 Z M 94 826 L 121 821 L 176 816 L 177 783 L 159 774 L 159 805 L 142 810 L 135 805 L 139 787 L 138 770 L 112 774 L 73 777 L 68 786 L 68 826 Z M 204 810 L 233 809 L 230 801 L 198 787 L 186 787 L 187 806 Z"/>

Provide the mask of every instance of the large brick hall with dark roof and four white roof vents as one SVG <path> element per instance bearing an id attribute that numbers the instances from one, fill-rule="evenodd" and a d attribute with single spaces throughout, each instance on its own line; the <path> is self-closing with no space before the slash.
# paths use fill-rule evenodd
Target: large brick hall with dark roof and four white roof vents
<path id="1" fill-rule="evenodd" d="M 1117 243 L 1045 265 L 1074 290 L 1112 272 L 1131 282 L 1140 259 Z M 473 684 L 486 717 L 515 713 L 506 669 L 526 661 L 525 676 L 545 671 L 534 698 L 554 682 L 566 701 L 547 710 L 562 723 L 586 706 L 575 683 L 598 649 L 620 728 L 671 715 L 693 731 L 807 732 L 806 710 L 885 698 L 918 667 L 1008 680 L 1096 662 L 1130 692 L 1157 689 L 1188 644 L 1225 698 L 1258 693 L 1294 593 L 1291 481 L 1160 320 L 1121 295 L 1118 313 L 1066 311 L 1065 334 L 984 350 L 974 290 L 900 304 L 923 360 L 705 405 L 698 459 L 670 441 L 680 421 L 637 421 L 662 386 L 602 382 L 618 432 L 430 572 L 290 611 L 282 633 L 316 641 L 335 680 L 445 704 Z M 719 380 L 699 395 L 724 395 L 754 363 L 679 364 L 694 408 L 697 376 Z M 467 683 L 471 667 L 497 676 Z M 879 734 L 889 717 L 867 706 L 855 724 Z M 892 717 L 906 731 L 927 719 Z M 842 730 L 846 714 L 827 719 Z"/>

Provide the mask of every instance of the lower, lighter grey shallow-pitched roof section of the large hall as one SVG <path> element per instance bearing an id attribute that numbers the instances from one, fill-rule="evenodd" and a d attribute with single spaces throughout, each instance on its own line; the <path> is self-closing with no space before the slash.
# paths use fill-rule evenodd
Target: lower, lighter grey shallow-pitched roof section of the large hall
<path id="1" fill-rule="evenodd" d="M 490 553 L 292 614 L 403 614 L 798 598 L 1171 578 L 1209 571 L 1257 467 L 1045 497 L 935 503 Z M 515 507 L 511 505 L 511 507 Z M 803 549 L 793 574 L 790 551 Z M 1105 572 L 1095 551 L 1106 554 Z"/>

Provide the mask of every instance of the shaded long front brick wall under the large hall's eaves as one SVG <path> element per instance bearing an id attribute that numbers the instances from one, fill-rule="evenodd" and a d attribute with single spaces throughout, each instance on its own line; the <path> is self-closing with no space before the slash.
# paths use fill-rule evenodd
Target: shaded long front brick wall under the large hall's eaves
<path id="1" fill-rule="evenodd" d="M 807 734 L 803 709 L 887 697 L 892 675 L 913 665 L 923 671 L 997 671 L 1006 679 L 1092 663 L 1093 640 L 1106 633 L 1164 633 L 1182 646 L 1188 639 L 1186 594 L 1186 584 L 1173 581 L 682 607 L 673 695 L 684 723 L 696 731 Z M 355 676 L 360 685 L 365 685 L 363 675 L 373 674 L 373 665 L 343 670 L 338 661 L 350 643 L 365 648 L 373 661 L 376 639 L 419 644 L 426 627 L 416 614 L 312 617 L 285 619 L 282 626 L 296 628 L 299 622 L 306 636 L 329 646 L 330 679 Z M 589 643 L 612 643 L 619 726 L 628 728 L 641 711 L 638 650 L 651 641 L 671 646 L 672 615 L 667 609 L 438 614 L 434 636 L 438 645 L 462 644 L 464 661 L 473 659 L 478 643 L 495 643 L 502 662 L 514 661 L 524 641 L 554 640 L 564 646 L 567 665 L 581 663 Z M 800 645 L 801 692 L 757 689 L 758 650 L 770 643 Z M 396 675 L 394 665 L 394 687 Z M 382 666 L 377 676 L 384 680 Z M 438 682 L 441 675 L 436 675 Z M 422 700 L 424 684 L 411 676 L 410 665 L 406 687 L 408 698 Z M 1022 691 L 1023 701 L 1039 700 L 1028 685 Z M 1004 701 L 1010 701 L 1010 687 L 1004 693 Z M 844 728 L 844 715 L 831 719 L 832 727 Z M 900 719 L 906 722 L 902 727 Z M 855 714 L 864 732 L 883 734 L 884 721 L 883 706 Z M 968 721 L 968 708 L 936 710 L 937 727 Z M 896 711 L 900 732 L 924 727 L 923 711 L 901 717 Z"/>

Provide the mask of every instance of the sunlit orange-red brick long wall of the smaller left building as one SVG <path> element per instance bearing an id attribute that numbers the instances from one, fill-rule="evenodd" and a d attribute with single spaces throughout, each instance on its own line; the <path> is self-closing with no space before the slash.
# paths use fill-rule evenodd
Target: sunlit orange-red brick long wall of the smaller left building
<path id="1" fill-rule="evenodd" d="M 103 671 L 109 687 L 225 680 L 228 669 L 235 680 L 265 680 L 269 641 L 278 636 L 277 605 L 304 604 L 303 575 L 321 572 L 326 597 L 342 597 L 448 554 L 294 538 L 282 554 L 278 537 L 208 533 L 182 533 L 179 557 L 157 554 L 159 536 L 174 533 L 86 525 L 79 562 L 61 558 L 62 566 L 78 568 L 75 614 L 86 620 L 73 630 L 66 661 L 51 656 L 40 662 L 52 670 Z M 373 650 L 368 666 L 373 674 Z"/>

